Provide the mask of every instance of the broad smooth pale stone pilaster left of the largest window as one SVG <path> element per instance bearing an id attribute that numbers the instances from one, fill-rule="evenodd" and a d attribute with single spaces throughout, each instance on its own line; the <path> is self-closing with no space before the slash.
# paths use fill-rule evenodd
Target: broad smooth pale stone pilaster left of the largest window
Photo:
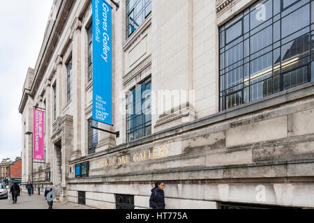
<path id="1" fill-rule="evenodd" d="M 153 132 L 195 119 L 192 9 L 192 0 L 152 1 Z"/>

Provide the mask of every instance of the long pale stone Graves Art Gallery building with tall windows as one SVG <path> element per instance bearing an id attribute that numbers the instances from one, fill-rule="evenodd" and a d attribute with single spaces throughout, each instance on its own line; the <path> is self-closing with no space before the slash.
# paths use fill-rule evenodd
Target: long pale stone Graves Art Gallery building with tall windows
<path id="1" fill-rule="evenodd" d="M 54 0 L 22 89 L 23 184 L 94 208 L 149 208 L 157 180 L 166 208 L 314 208 L 314 1 L 107 3 L 114 125 L 91 118 L 92 3 Z"/>

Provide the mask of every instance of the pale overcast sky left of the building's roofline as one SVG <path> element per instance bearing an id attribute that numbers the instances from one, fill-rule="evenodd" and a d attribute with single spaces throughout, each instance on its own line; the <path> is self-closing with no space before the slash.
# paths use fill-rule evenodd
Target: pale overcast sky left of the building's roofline
<path id="1" fill-rule="evenodd" d="M 36 65 L 52 3 L 0 0 L 0 162 L 21 156 L 22 88 Z"/>

